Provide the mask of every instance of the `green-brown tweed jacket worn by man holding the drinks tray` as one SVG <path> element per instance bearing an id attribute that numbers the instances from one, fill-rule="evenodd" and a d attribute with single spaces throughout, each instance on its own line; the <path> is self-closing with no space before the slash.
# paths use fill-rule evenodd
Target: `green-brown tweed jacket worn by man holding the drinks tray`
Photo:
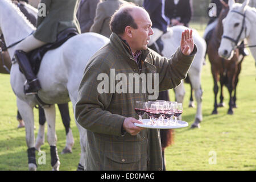
<path id="1" fill-rule="evenodd" d="M 75 106 L 77 122 L 87 130 L 85 170 L 162 170 L 159 130 L 144 129 L 135 136 L 122 133 L 126 117 L 139 118 L 134 111 L 136 101 L 148 101 L 149 94 L 142 92 L 142 84 L 127 81 L 125 76 L 159 73 L 159 90 L 175 88 L 186 77 L 195 53 L 196 46 L 189 56 L 183 55 L 178 48 L 168 60 L 146 49 L 140 57 L 143 60 L 140 70 L 119 36 L 110 35 L 110 43 L 96 52 L 86 65 Z M 113 78 L 113 69 L 116 78 Z M 99 88 L 102 80 L 106 80 L 101 73 L 109 78 L 103 93 L 99 93 Z M 119 73 L 123 73 L 124 90 L 139 86 L 139 92 L 114 89 L 110 82 L 118 88 Z"/>

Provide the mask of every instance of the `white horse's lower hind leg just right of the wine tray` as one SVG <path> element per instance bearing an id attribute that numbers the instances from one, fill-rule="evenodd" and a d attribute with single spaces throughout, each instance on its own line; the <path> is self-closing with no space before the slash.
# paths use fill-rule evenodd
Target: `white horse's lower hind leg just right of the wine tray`
<path id="1" fill-rule="evenodd" d="M 189 70 L 188 76 L 190 77 L 192 88 L 193 90 L 195 90 L 195 98 L 197 103 L 195 121 L 191 125 L 191 128 L 195 128 L 195 127 L 200 128 L 200 122 L 203 120 L 203 114 L 202 114 L 203 90 L 201 89 L 200 72 L 191 68 Z"/>

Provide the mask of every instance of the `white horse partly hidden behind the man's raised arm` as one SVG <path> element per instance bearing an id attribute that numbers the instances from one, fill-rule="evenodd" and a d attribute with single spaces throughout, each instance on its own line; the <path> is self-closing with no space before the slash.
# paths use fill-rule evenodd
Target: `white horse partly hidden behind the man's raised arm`
<path id="1" fill-rule="evenodd" d="M 166 34 L 162 36 L 164 48 L 162 51 L 163 56 L 171 57 L 175 53 L 176 49 L 180 46 L 181 32 L 188 29 L 184 26 L 174 26 L 168 28 Z M 203 38 L 198 34 L 196 30 L 193 30 L 193 40 L 197 47 L 197 53 L 191 68 L 188 71 L 188 77 L 191 81 L 192 88 L 195 90 L 195 98 L 197 102 L 197 111 L 195 116 L 195 122 L 191 127 L 200 127 L 200 122 L 203 120 L 202 114 L 202 94 L 201 89 L 201 69 L 203 67 L 204 55 L 206 51 L 206 43 Z M 175 95 L 177 102 L 182 103 L 185 96 L 184 82 L 181 81 L 180 85 L 175 88 Z"/>

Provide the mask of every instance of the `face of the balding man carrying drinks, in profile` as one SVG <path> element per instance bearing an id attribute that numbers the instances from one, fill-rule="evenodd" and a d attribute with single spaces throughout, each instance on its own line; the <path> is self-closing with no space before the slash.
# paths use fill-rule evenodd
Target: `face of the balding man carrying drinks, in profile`
<path id="1" fill-rule="evenodd" d="M 135 51 L 147 49 L 148 40 L 150 40 L 150 35 L 154 34 L 151 26 L 152 22 L 150 16 L 143 9 L 136 9 L 132 14 L 135 23 L 137 23 L 138 28 L 133 28 L 133 49 Z"/>

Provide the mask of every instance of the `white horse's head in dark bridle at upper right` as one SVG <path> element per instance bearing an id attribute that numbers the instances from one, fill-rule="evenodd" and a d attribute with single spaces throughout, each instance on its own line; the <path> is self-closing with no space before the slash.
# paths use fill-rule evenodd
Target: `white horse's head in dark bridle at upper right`
<path id="1" fill-rule="evenodd" d="M 246 18 L 246 7 L 250 0 L 245 0 L 242 4 L 229 0 L 229 12 L 222 20 L 223 35 L 218 54 L 224 59 L 231 59 L 234 49 L 246 38 L 250 32 L 250 23 Z"/>

